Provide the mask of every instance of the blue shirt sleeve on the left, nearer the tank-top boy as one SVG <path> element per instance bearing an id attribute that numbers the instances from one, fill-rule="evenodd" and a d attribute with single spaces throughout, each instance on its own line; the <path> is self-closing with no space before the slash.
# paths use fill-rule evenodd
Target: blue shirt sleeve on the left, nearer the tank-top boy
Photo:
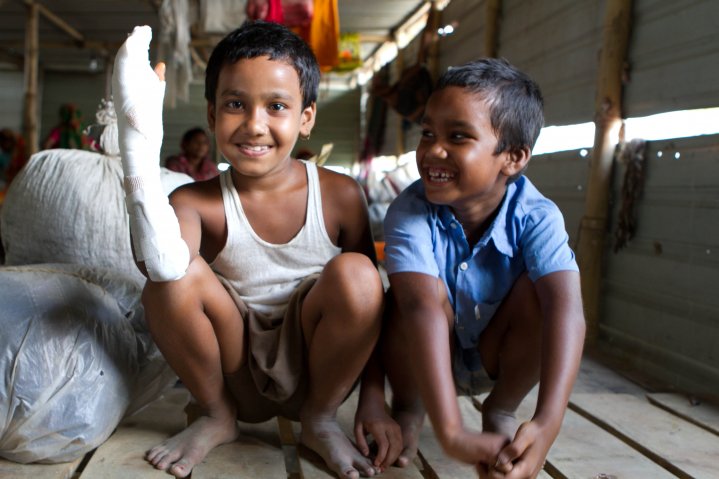
<path id="1" fill-rule="evenodd" d="M 439 276 L 432 224 L 430 205 L 414 188 L 407 188 L 392 202 L 384 220 L 387 274 Z"/>

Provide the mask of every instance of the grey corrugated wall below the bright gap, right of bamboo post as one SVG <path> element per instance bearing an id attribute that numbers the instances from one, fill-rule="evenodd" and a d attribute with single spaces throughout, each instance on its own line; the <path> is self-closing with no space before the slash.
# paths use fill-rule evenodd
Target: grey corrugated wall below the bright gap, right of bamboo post
<path id="1" fill-rule="evenodd" d="M 718 145 L 719 136 L 649 144 L 636 237 L 606 253 L 599 325 L 608 351 L 679 389 L 712 395 L 719 393 Z M 620 168 L 610 243 L 622 175 Z"/>

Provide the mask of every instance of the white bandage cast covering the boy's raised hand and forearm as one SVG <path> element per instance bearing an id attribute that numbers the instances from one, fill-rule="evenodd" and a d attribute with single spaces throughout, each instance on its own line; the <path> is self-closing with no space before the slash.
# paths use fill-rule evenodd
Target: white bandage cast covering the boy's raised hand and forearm
<path id="1" fill-rule="evenodd" d="M 172 281 L 190 254 L 160 181 L 165 82 L 150 66 L 151 38 L 150 27 L 135 27 L 115 57 L 112 89 L 135 258 L 151 280 Z"/>

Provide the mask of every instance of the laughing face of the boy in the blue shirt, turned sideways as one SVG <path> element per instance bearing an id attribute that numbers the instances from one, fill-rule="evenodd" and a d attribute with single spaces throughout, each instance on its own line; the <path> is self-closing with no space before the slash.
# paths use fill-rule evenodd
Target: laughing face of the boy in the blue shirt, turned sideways
<path id="1" fill-rule="evenodd" d="M 482 96 L 457 86 L 434 92 L 417 147 L 427 199 L 450 206 L 456 214 L 482 205 L 496 207 L 507 177 L 528 160 L 521 152 L 520 157 L 509 151 L 495 154 L 496 147 L 497 135 Z"/>

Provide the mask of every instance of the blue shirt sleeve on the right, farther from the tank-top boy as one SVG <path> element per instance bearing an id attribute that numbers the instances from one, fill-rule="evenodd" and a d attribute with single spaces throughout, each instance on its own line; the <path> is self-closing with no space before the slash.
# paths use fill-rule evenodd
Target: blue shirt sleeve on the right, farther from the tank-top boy
<path id="1" fill-rule="evenodd" d="M 579 271 L 564 218 L 554 204 L 529 212 L 521 246 L 532 281 L 556 271 Z"/>

